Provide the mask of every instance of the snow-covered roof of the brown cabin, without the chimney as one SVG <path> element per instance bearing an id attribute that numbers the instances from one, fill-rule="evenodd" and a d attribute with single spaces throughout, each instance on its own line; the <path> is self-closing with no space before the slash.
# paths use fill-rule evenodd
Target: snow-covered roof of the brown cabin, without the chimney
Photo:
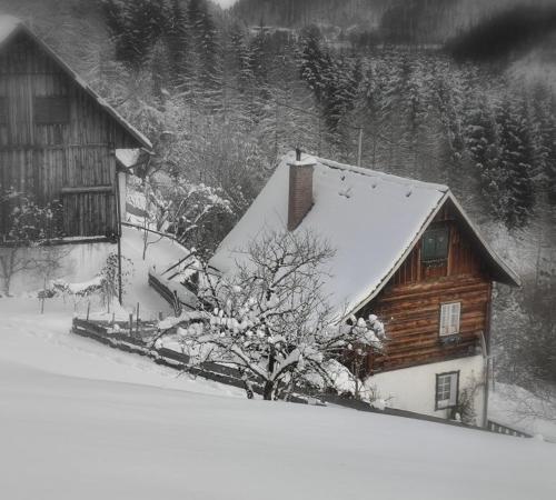
<path id="1" fill-rule="evenodd" d="M 286 156 L 246 214 L 225 238 L 210 264 L 232 272 L 250 241 L 285 232 L 288 221 L 289 167 Z M 420 182 L 374 170 L 315 159 L 314 206 L 295 231 L 310 231 L 335 250 L 324 284 L 338 313 L 356 312 L 376 297 L 401 266 L 423 232 L 449 201 L 484 250 L 496 280 L 519 278 L 487 246 L 461 207 L 441 184 Z"/>

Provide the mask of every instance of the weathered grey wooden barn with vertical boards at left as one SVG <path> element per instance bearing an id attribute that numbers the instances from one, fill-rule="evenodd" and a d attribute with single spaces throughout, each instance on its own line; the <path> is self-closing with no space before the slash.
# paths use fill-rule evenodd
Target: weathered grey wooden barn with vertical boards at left
<path id="1" fill-rule="evenodd" d="M 119 233 L 117 150 L 151 144 L 18 19 L 0 16 L 0 193 L 62 206 L 64 237 Z M 0 208 L 7 231 L 9 202 Z"/>

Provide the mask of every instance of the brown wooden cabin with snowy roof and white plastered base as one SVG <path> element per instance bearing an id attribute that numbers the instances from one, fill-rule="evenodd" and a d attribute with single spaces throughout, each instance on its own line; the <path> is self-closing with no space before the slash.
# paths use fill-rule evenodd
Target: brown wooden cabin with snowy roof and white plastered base
<path id="1" fill-rule="evenodd" d="M 385 323 L 386 352 L 366 366 L 381 398 L 451 417 L 467 389 L 481 423 L 493 282 L 519 278 L 448 187 L 290 153 L 210 263 L 232 273 L 251 241 L 281 231 L 311 231 L 335 250 L 324 294 L 339 316 Z"/>

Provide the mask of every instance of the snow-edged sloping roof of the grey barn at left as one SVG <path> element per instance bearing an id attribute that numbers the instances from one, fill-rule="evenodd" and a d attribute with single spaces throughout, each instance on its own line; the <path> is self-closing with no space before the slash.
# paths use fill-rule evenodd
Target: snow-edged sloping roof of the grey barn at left
<path id="1" fill-rule="evenodd" d="M 30 30 L 20 19 L 13 16 L 0 14 L 0 50 L 7 44 L 7 42 L 16 36 L 18 32 L 24 32 L 30 38 L 32 38 L 41 48 L 57 61 L 57 63 L 62 68 L 62 70 L 76 81 L 76 83 L 81 87 L 89 96 L 91 96 L 98 104 L 110 114 L 122 128 L 126 130 L 137 142 L 147 149 L 151 149 L 152 144 L 139 130 L 137 130 L 129 121 L 127 121 L 118 111 L 116 111 L 105 99 L 102 99 L 95 90 L 92 90 L 89 84 L 77 74 L 71 67 L 63 61 L 63 59 L 58 56 L 43 40 L 41 40 L 32 30 Z"/>

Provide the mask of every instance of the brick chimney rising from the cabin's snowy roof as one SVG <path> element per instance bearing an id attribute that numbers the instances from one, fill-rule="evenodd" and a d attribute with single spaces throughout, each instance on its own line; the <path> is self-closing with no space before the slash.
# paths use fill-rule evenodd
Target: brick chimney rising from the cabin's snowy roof
<path id="1" fill-rule="evenodd" d="M 294 231 L 312 207 L 312 172 L 317 162 L 311 157 L 301 160 L 296 150 L 296 161 L 289 163 L 288 231 Z"/>

